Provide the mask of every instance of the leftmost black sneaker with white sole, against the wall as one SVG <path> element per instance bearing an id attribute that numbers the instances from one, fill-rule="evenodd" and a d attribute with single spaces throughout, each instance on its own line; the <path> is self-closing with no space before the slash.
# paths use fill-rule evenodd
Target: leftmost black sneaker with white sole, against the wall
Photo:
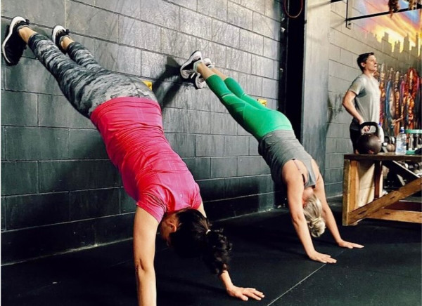
<path id="1" fill-rule="evenodd" d="M 20 38 L 18 29 L 27 27 L 28 25 L 30 25 L 30 20 L 16 16 L 12 19 L 10 25 L 6 27 L 6 38 L 3 44 L 1 44 L 1 51 L 3 52 L 3 57 L 7 65 L 16 65 L 20 58 L 22 58 L 26 43 Z"/>

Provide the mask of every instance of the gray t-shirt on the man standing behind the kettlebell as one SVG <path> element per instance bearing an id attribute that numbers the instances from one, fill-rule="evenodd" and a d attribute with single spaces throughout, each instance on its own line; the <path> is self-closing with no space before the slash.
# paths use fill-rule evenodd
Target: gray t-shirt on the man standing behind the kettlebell
<path id="1" fill-rule="evenodd" d="M 354 107 L 356 107 L 357 112 L 359 112 L 364 121 L 373 121 L 378 124 L 380 122 L 381 99 L 378 81 L 374 77 L 361 74 L 354 79 L 349 91 L 356 94 Z M 350 128 L 359 131 L 359 122 L 353 118 Z"/>

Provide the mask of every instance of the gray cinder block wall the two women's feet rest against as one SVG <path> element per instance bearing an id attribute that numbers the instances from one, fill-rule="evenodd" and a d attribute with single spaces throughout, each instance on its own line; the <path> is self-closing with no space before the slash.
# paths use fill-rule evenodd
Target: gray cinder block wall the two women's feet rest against
<path id="1" fill-rule="evenodd" d="M 272 208 L 278 194 L 257 141 L 179 65 L 200 49 L 277 107 L 281 5 L 266 0 L 4 0 L 38 32 L 68 27 L 98 62 L 153 81 L 164 128 L 200 185 L 210 219 Z M 3 38 L 2 38 L 3 39 Z M 100 135 L 31 51 L 1 62 L 1 262 L 132 237 L 135 205 Z"/>

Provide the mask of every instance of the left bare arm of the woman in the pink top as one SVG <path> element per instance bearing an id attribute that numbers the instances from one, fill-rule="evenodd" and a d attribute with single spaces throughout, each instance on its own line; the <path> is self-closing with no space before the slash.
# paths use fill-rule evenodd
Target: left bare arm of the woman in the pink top
<path id="1" fill-rule="evenodd" d="M 139 306 L 155 306 L 157 289 L 155 288 L 155 236 L 158 221 L 137 207 L 134 220 L 134 265 Z"/>

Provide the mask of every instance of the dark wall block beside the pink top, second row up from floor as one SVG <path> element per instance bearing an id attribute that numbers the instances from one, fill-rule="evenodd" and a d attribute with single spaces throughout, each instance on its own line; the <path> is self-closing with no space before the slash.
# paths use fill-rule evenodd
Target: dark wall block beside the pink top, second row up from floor
<path id="1" fill-rule="evenodd" d="M 69 193 L 70 221 L 120 213 L 120 188 L 82 190 Z"/>

